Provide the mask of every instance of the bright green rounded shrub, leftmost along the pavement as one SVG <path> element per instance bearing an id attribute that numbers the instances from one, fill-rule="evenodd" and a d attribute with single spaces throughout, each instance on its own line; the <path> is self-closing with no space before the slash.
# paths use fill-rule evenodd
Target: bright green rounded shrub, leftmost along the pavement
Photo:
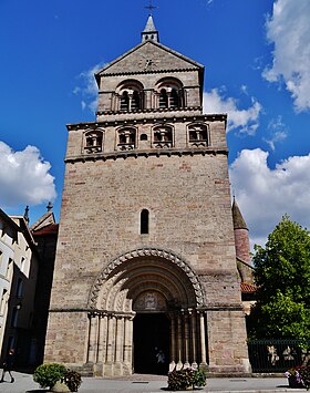
<path id="1" fill-rule="evenodd" d="M 66 373 L 63 364 L 45 363 L 39 365 L 33 373 L 33 381 L 41 387 L 52 389 L 58 381 L 61 381 Z"/>

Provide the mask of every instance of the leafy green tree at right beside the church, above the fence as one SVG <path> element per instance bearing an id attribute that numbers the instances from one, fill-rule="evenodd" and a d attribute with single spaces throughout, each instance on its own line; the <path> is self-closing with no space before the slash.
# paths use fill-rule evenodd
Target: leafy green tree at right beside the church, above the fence
<path id="1" fill-rule="evenodd" d="M 255 246 L 257 303 L 249 337 L 310 340 L 310 234 L 288 216 Z"/>

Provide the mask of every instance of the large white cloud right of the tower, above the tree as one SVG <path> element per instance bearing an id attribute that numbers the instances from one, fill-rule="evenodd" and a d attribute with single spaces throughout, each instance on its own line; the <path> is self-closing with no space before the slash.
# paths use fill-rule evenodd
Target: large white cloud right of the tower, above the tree
<path id="1" fill-rule="evenodd" d="M 288 214 L 310 227 L 310 154 L 292 156 L 270 169 L 268 152 L 244 149 L 230 165 L 236 200 L 249 228 L 251 245 L 267 236 Z"/>

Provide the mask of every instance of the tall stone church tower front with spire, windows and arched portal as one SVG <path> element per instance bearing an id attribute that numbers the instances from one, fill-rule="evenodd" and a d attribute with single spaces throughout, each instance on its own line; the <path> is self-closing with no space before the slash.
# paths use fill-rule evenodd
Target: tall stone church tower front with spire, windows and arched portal
<path id="1" fill-rule="evenodd" d="M 204 66 L 159 43 L 149 17 L 95 77 L 96 121 L 68 125 L 44 361 L 249 372 L 227 116 L 203 114 Z"/>

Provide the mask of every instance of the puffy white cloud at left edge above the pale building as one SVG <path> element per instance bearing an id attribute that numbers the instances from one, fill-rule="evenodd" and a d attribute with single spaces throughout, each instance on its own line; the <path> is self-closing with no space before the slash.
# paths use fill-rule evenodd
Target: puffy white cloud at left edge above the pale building
<path id="1" fill-rule="evenodd" d="M 0 141 L 0 205 L 39 205 L 56 197 L 50 163 L 34 146 L 14 152 Z"/>

